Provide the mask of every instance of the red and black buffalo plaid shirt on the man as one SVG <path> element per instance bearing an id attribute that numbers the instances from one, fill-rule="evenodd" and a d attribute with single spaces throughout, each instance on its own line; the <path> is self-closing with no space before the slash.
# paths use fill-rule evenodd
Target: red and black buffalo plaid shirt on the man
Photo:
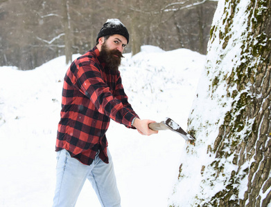
<path id="1" fill-rule="evenodd" d="M 55 147 L 87 165 L 98 150 L 100 159 L 108 163 L 105 132 L 110 119 L 132 128 L 132 119 L 138 117 L 128 103 L 119 71 L 106 70 L 99 54 L 95 46 L 67 70 Z"/>

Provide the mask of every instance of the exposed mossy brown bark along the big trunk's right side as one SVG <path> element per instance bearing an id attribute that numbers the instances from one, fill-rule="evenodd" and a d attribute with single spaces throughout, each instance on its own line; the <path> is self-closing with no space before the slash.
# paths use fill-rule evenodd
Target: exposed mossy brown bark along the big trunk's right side
<path id="1" fill-rule="evenodd" d="M 231 8 L 232 13 L 226 14 L 227 28 L 231 28 L 235 23 L 234 14 L 237 12 L 235 10 L 237 5 L 238 1 L 229 3 L 228 8 Z M 216 168 L 218 174 L 222 174 L 224 170 L 218 168 L 221 166 L 222 159 L 233 157 L 232 164 L 238 168 L 231 171 L 230 181 L 225 189 L 212 195 L 211 200 L 203 206 L 270 204 L 271 1 L 250 1 L 249 9 L 247 10 L 250 12 L 248 26 L 251 30 L 244 32 L 251 33 L 247 37 L 243 35 L 246 38 L 241 57 L 243 63 L 234 68 L 225 80 L 227 95 L 234 98 L 234 102 L 211 148 L 211 151 L 216 154 L 216 161 L 211 166 Z M 226 48 L 229 43 L 230 33 L 226 30 L 220 34 L 223 48 Z M 232 84 L 236 86 L 236 90 L 233 90 Z M 240 195 L 240 182 L 244 180 L 247 183 L 246 190 L 243 195 Z"/>

